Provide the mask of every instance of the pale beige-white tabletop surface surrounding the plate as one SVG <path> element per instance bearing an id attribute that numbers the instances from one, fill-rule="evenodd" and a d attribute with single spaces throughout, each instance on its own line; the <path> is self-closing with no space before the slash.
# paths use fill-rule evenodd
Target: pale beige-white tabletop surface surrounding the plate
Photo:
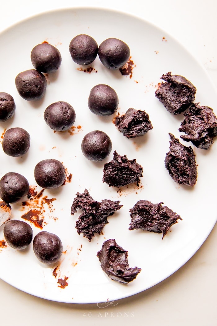
<path id="1" fill-rule="evenodd" d="M 195 1 L 26 1 L 1 3 L 0 31 L 50 9 L 107 7 L 131 12 L 175 37 L 200 61 L 217 86 L 217 21 L 215 0 Z M 4 45 L 1 44 L 1 51 Z M 217 108 L 214 108 L 215 111 Z M 206 216 L 204 216 L 206 219 Z M 23 293 L 0 280 L 1 324 L 216 326 L 217 226 L 197 253 L 169 278 L 133 297 L 98 307 L 62 304 Z M 148 266 L 147 266 L 148 268 Z"/>

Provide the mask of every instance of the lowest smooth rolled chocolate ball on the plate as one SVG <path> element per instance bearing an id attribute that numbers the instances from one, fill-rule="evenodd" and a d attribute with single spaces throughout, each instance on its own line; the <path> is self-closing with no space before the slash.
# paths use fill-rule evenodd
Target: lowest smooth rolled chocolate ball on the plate
<path id="1" fill-rule="evenodd" d="M 60 259 L 62 242 L 56 234 L 41 231 L 33 239 L 33 250 L 38 260 L 50 265 Z"/>

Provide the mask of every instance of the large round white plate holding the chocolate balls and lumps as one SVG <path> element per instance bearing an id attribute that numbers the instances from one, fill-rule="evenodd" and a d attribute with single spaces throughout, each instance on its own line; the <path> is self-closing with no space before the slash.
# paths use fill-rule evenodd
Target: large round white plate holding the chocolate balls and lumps
<path id="1" fill-rule="evenodd" d="M 94 37 L 98 44 L 108 37 L 125 41 L 134 62 L 132 78 L 122 76 L 119 70 L 106 69 L 98 57 L 91 65 L 95 69 L 91 73 L 77 69 L 80 66 L 72 61 L 68 47 L 71 39 L 82 33 Z M 43 41 L 60 50 L 62 64 L 57 73 L 48 77 L 45 97 L 38 102 L 28 102 L 18 95 L 14 80 L 19 72 L 33 68 L 30 52 Z M 46 158 L 59 159 L 68 173 L 72 173 L 70 183 L 43 193 L 48 199 L 56 198 L 50 208 L 43 205 L 45 213 L 42 215 L 43 230 L 56 233 L 63 243 L 64 253 L 57 276 L 53 275 L 55 266 L 43 265 L 36 259 L 31 244 L 24 252 L 9 246 L 0 248 L 0 277 L 18 289 L 49 300 L 96 303 L 133 295 L 170 276 L 197 251 L 216 222 L 217 141 L 209 151 L 192 146 L 198 164 L 197 184 L 193 188 L 176 184 L 165 169 L 164 159 L 169 150 L 168 133 L 179 138 L 178 128 L 183 115 L 173 116 L 166 111 L 156 99 L 155 90 L 162 74 L 171 71 L 183 75 L 197 87 L 195 101 L 215 111 L 215 89 L 204 68 L 164 31 L 136 17 L 104 9 L 48 12 L 7 29 L 0 35 L 0 43 L 0 91 L 11 94 L 16 102 L 14 118 L 1 123 L 0 132 L 20 126 L 31 135 L 26 156 L 13 158 L 0 151 L 0 177 L 8 171 L 16 171 L 23 174 L 30 185 L 35 185 L 34 166 Z M 88 95 L 99 83 L 108 84 L 117 92 L 118 112 L 124 113 L 129 107 L 145 110 L 153 129 L 143 137 L 129 140 L 115 128 L 113 116 L 102 118 L 92 114 L 87 106 Z M 46 107 L 59 100 L 69 102 L 76 111 L 74 135 L 54 133 L 44 122 Z M 112 153 L 116 150 L 129 159 L 136 158 L 143 166 L 140 187 L 134 185 L 117 192 L 116 188 L 102 183 L 103 164 L 110 161 L 113 154 L 105 162 L 96 164 L 88 161 L 80 149 L 85 134 L 95 129 L 110 136 Z M 79 212 L 70 215 L 75 193 L 83 192 L 85 188 L 95 200 L 120 200 L 124 205 L 108 218 L 104 234 L 96 235 L 91 242 L 77 234 L 75 221 Z M 40 187 L 37 190 L 40 191 Z M 163 240 L 161 234 L 129 231 L 129 209 L 140 199 L 153 203 L 163 201 L 183 220 L 172 226 Z M 21 215 L 28 207 L 19 202 L 12 204 L 12 209 L 12 217 L 22 219 Z M 34 235 L 41 231 L 34 224 L 31 226 Z M 128 250 L 131 267 L 142 268 L 137 278 L 126 286 L 110 280 L 96 256 L 103 241 L 110 238 L 115 238 Z M 0 240 L 3 239 L 2 226 Z M 68 277 L 68 285 L 62 289 L 58 278 L 65 277 Z"/>

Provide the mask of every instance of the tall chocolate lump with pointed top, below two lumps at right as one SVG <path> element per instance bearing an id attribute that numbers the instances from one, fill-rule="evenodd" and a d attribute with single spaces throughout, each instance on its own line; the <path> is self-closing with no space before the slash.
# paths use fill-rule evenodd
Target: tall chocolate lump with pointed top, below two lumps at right
<path id="1" fill-rule="evenodd" d="M 191 146 L 184 146 L 170 135 L 170 151 L 166 154 L 165 167 L 170 176 L 180 185 L 195 185 L 197 182 L 197 165 Z"/>

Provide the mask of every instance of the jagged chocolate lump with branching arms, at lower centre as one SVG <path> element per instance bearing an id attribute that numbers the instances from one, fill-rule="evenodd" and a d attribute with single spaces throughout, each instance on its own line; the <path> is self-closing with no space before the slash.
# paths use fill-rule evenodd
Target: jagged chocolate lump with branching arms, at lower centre
<path id="1" fill-rule="evenodd" d="M 75 228 L 78 234 L 83 233 L 84 237 L 91 241 L 95 233 L 100 234 L 105 224 L 108 223 L 107 217 L 113 215 L 123 205 L 119 205 L 119 200 L 112 201 L 103 199 L 102 202 L 95 201 L 90 196 L 87 189 L 84 193 L 76 193 L 71 207 L 71 215 L 74 215 L 77 209 L 82 209 L 82 214 L 76 221 Z"/>

